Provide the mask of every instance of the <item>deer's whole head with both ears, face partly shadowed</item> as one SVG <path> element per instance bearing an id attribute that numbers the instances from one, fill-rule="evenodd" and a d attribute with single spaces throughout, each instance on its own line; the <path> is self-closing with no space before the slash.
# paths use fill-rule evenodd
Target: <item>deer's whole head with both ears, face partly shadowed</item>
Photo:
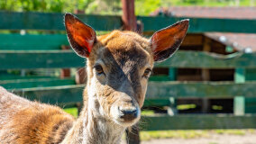
<path id="1" fill-rule="evenodd" d="M 109 121 L 127 127 L 140 119 L 148 79 L 155 61 L 169 58 L 184 39 L 188 20 L 145 39 L 132 31 L 96 31 L 72 14 L 65 15 L 69 43 L 87 58 L 88 104 Z M 92 100 L 92 101 L 91 101 Z"/>

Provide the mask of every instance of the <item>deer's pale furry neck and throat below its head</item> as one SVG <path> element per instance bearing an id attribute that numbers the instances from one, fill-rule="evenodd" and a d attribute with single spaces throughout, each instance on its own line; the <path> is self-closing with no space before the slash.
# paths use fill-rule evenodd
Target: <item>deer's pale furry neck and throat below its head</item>
<path id="1" fill-rule="evenodd" d="M 62 143 L 120 143 L 125 128 L 105 116 L 96 99 L 96 93 L 90 88 L 94 85 L 91 85 L 93 83 L 90 83 L 89 80 L 88 78 L 87 87 L 84 91 L 83 110 Z"/>

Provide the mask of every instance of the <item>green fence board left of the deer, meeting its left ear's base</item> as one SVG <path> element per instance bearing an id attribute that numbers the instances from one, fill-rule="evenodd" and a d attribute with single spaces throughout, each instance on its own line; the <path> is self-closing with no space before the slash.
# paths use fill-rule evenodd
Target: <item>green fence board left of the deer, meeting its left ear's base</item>
<path id="1" fill-rule="evenodd" d="M 85 59 L 72 50 L 0 50 L 0 69 L 84 67 Z"/>

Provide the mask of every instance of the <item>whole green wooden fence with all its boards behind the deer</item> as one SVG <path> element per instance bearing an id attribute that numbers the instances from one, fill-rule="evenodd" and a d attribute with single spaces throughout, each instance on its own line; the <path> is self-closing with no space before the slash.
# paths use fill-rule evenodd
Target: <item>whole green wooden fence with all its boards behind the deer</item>
<path id="1" fill-rule="evenodd" d="M 63 14 L 0 12 L 0 17 L 0 30 L 37 30 L 60 33 L 0 34 L 0 70 L 85 66 L 86 60 L 76 56 L 73 51 L 60 50 L 61 45 L 69 45 L 63 31 Z M 122 27 L 121 17 L 116 15 L 78 15 L 78 17 L 93 26 L 96 31 L 112 31 Z M 138 16 L 137 19 L 144 24 L 144 31 L 157 31 L 184 18 Z M 189 19 L 189 32 L 193 33 L 206 31 L 256 33 L 256 20 Z M 163 63 L 156 63 L 155 67 L 168 68 L 235 68 L 236 78 L 234 82 L 150 82 L 145 106 L 170 105 L 169 97 L 234 98 L 234 103 L 242 104 L 235 104 L 237 111 L 234 111 L 234 114 L 178 114 L 142 117 L 142 130 L 256 128 L 256 115 L 244 114 L 244 103 L 256 96 L 256 82 L 247 82 L 247 80 L 256 80 L 256 78 L 253 79 L 256 77 L 255 59 L 255 53 L 235 53 L 223 56 L 208 52 L 178 51 L 173 58 Z M 42 103 L 58 103 L 59 106 L 82 101 L 82 91 L 85 85 L 75 85 L 73 78 L 6 77 L 0 76 L 5 79 L 0 79 L 0 85 L 32 100 L 39 100 Z M 165 77 L 162 79 L 165 80 Z"/>

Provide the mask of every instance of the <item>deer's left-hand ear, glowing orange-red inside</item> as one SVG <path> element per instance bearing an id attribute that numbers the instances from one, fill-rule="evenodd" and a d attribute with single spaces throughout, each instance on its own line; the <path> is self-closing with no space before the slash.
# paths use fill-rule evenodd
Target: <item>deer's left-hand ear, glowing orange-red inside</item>
<path id="1" fill-rule="evenodd" d="M 65 14 L 64 19 L 71 47 L 80 57 L 89 57 L 96 42 L 96 31 L 72 14 Z"/>

